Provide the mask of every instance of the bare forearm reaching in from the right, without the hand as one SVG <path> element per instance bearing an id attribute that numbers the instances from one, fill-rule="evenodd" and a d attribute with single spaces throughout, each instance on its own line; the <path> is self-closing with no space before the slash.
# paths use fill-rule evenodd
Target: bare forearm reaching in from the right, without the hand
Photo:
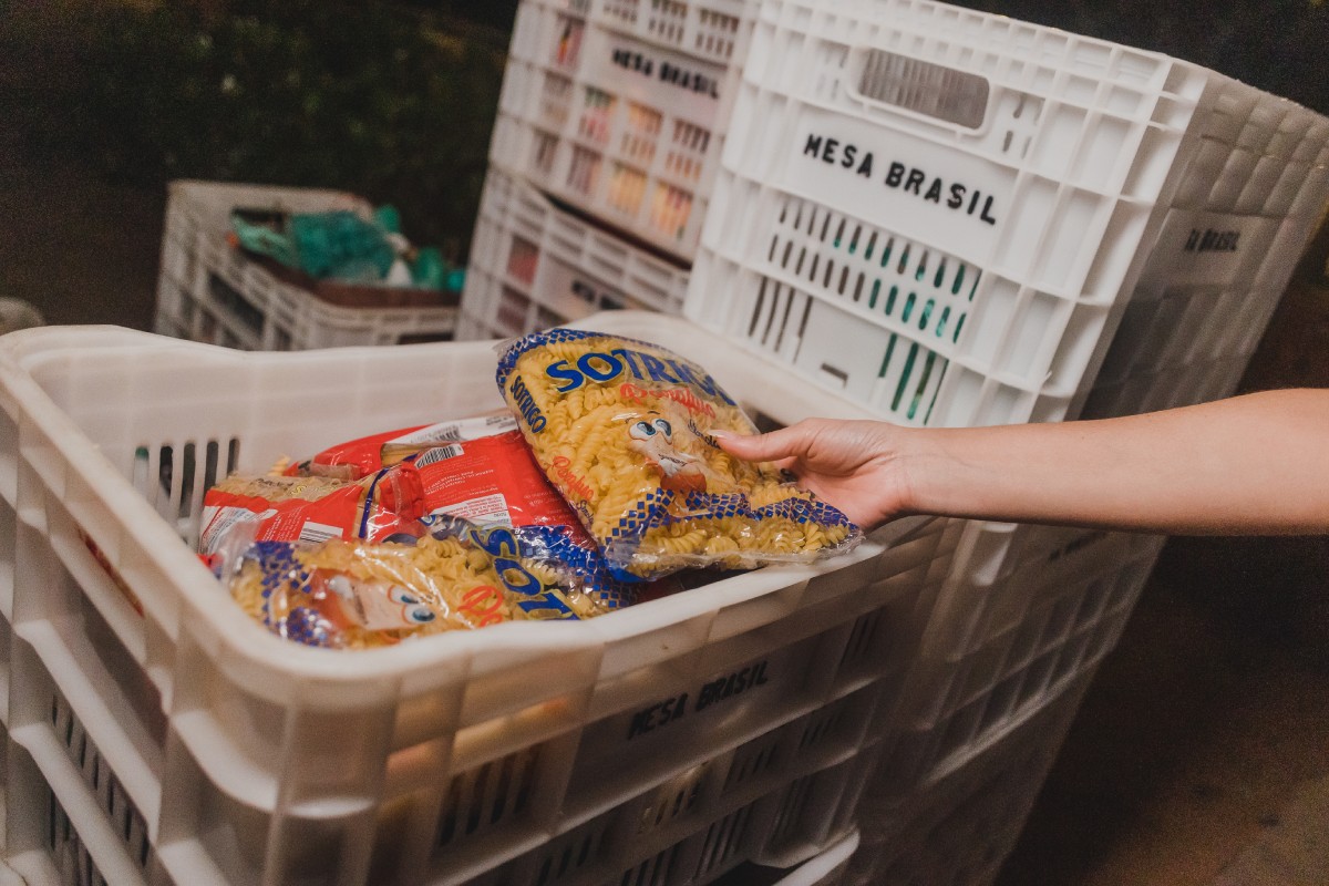
<path id="1" fill-rule="evenodd" d="M 910 510 L 1175 534 L 1329 531 L 1329 392 L 909 432 Z"/>

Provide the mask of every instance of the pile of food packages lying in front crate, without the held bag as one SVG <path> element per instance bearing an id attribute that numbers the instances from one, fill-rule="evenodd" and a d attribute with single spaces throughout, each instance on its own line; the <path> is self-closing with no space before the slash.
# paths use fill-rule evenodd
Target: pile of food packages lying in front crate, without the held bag
<path id="1" fill-rule="evenodd" d="M 679 587 L 629 586 L 505 413 L 379 433 L 207 490 L 199 551 L 275 634 L 365 648 L 571 620 Z"/>

